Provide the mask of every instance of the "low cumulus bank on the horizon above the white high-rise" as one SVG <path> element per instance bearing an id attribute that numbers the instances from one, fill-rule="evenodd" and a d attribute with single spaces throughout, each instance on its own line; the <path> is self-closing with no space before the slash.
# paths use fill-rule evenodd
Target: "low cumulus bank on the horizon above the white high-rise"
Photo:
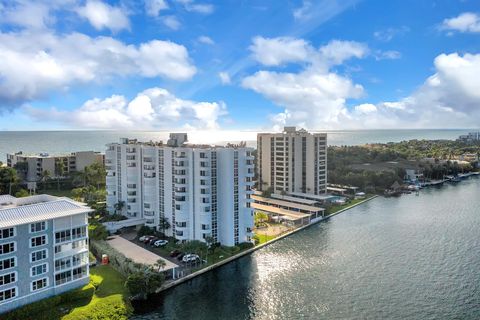
<path id="1" fill-rule="evenodd" d="M 227 114 L 223 102 L 195 102 L 175 97 L 162 88 L 150 88 L 128 101 L 122 95 L 91 99 L 72 111 L 56 108 L 24 107 L 38 121 L 68 123 L 75 128 L 138 129 L 195 128 L 217 129 Z"/>

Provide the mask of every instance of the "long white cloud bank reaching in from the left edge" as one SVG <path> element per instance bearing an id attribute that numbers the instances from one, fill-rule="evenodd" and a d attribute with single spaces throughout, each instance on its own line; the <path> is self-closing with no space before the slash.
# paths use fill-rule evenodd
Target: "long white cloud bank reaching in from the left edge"
<path id="1" fill-rule="evenodd" d="M 80 33 L 0 33 L 0 105 L 4 106 L 114 76 L 187 80 L 195 73 L 187 49 L 170 41 L 152 40 L 137 47 Z"/>

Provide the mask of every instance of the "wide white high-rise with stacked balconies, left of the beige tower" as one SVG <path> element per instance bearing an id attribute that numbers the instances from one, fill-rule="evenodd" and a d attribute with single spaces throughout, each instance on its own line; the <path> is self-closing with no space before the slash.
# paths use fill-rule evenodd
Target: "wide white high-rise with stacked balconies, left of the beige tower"
<path id="1" fill-rule="evenodd" d="M 123 215 L 182 241 L 250 242 L 252 149 L 186 141 L 186 134 L 171 134 L 167 144 L 122 139 L 107 145 L 108 210 L 124 203 Z"/>

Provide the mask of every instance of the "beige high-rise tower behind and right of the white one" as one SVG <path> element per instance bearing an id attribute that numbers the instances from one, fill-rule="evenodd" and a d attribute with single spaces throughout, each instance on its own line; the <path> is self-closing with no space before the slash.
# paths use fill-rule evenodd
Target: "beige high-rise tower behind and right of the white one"
<path id="1" fill-rule="evenodd" d="M 285 127 L 257 137 L 258 188 L 274 193 L 327 191 L 327 134 Z"/>

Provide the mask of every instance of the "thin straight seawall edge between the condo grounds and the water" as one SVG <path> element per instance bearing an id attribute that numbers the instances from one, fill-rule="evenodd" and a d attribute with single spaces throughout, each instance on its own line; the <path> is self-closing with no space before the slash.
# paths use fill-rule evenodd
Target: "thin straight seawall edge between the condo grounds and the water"
<path id="1" fill-rule="evenodd" d="M 361 205 L 361 204 L 363 204 L 363 203 L 365 203 L 365 202 L 367 202 L 367 201 L 373 200 L 373 199 L 375 199 L 375 198 L 377 198 L 377 197 L 379 197 L 379 195 L 373 195 L 373 196 L 371 196 L 371 197 L 369 197 L 369 198 L 367 198 L 367 199 L 364 199 L 364 200 L 362 200 L 362 201 L 360 201 L 360 202 L 357 202 L 357 203 L 355 203 L 355 204 L 352 204 L 351 206 L 348 206 L 348 207 L 346 207 L 346 208 L 343 208 L 343 209 L 341 209 L 341 210 L 338 210 L 337 212 L 334 212 L 334 213 L 332 213 L 332 214 L 329 214 L 328 216 L 325 216 L 325 217 L 322 218 L 322 219 L 313 221 L 313 222 L 311 222 L 311 223 L 309 223 L 309 224 L 307 224 L 307 225 L 304 225 L 304 226 L 301 226 L 301 227 L 299 227 L 299 228 L 297 228 L 297 229 L 291 230 L 291 231 L 289 231 L 289 232 L 287 232 L 287 233 L 285 233 L 285 234 L 282 234 L 282 235 L 280 235 L 280 236 L 278 236 L 278 237 L 276 237 L 276 238 L 274 238 L 274 239 L 271 239 L 271 240 L 269 240 L 269 241 L 267 241 L 267 242 L 265 242 L 265 243 L 262 243 L 262 244 L 260 244 L 260 245 L 258 245 L 258 246 L 255 246 L 255 247 L 253 247 L 253 248 L 250 248 L 250 249 L 247 249 L 247 250 L 242 251 L 242 252 L 240 252 L 240 253 L 237 253 L 237 254 L 234 255 L 234 256 L 231 256 L 231 257 L 229 257 L 229 258 L 226 258 L 225 260 L 222 260 L 222 261 L 219 261 L 219 262 L 217 262 L 217 263 L 214 263 L 214 264 L 212 264 L 212 265 L 210 265 L 210 266 L 208 266 L 208 267 L 205 267 L 205 268 L 203 268 L 203 269 L 201 269 L 201 270 L 195 271 L 194 273 L 191 273 L 191 274 L 189 274 L 189 275 L 187 275 L 187 276 L 185 276 L 185 277 L 183 277 L 183 278 L 180 278 L 180 279 L 174 280 L 174 281 L 172 281 L 172 282 L 169 282 L 169 283 L 163 285 L 162 287 L 158 288 L 155 293 L 158 294 L 158 293 L 161 293 L 161 292 L 163 292 L 163 291 L 166 291 L 166 290 L 168 290 L 168 289 L 170 289 L 170 288 L 176 287 L 176 286 L 178 286 L 178 285 L 180 285 L 180 284 L 182 284 L 182 283 L 184 283 L 184 282 L 187 282 L 187 281 L 189 281 L 189 280 L 192 280 L 193 278 L 196 278 L 196 277 L 198 277 L 198 276 L 200 276 L 200 275 L 202 275 L 202 274 L 204 274 L 204 273 L 206 273 L 206 272 L 209 272 L 209 271 L 212 271 L 212 270 L 214 270 L 214 269 L 217 269 L 217 268 L 219 268 L 219 267 L 221 267 L 221 266 L 223 266 L 223 265 L 225 265 L 225 264 L 227 264 L 227 263 L 230 263 L 230 262 L 232 262 L 232 261 L 234 261 L 234 260 L 237 260 L 237 259 L 239 259 L 239 258 L 241 258 L 241 257 L 243 257 L 243 256 L 245 256 L 245 255 L 251 254 L 251 253 L 253 253 L 253 252 L 255 252 L 255 251 L 257 251 L 257 250 L 259 250 L 259 249 L 261 249 L 261 248 L 264 248 L 265 246 L 268 246 L 268 245 L 270 245 L 270 244 L 272 244 L 272 243 L 274 243 L 274 242 L 277 242 L 277 241 L 279 241 L 279 240 L 281 240 L 281 239 L 284 239 L 284 238 L 286 238 L 286 237 L 288 237 L 288 236 L 291 236 L 292 234 L 297 233 L 297 232 L 299 232 L 299 231 L 302 231 L 302 230 L 304 230 L 304 229 L 306 229 L 306 228 L 308 228 L 308 227 L 311 227 L 311 226 L 313 226 L 313 225 L 316 225 L 317 223 L 319 223 L 319 222 L 321 222 L 321 221 L 328 220 L 328 219 L 330 219 L 330 218 L 332 218 L 332 217 L 334 217 L 334 216 L 336 216 L 336 215 L 338 215 L 338 214 L 340 214 L 340 213 L 342 213 L 342 212 L 345 212 L 345 211 L 347 211 L 347 210 L 350 210 L 350 209 L 352 209 L 352 208 L 354 208 L 354 207 L 356 207 L 356 206 L 359 206 L 359 205 Z"/>

